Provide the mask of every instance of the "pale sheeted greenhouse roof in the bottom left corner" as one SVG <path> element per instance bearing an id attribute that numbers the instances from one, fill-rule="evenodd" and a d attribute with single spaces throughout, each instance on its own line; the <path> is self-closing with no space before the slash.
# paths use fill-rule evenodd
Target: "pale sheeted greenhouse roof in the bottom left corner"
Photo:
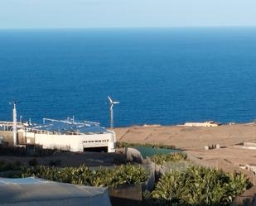
<path id="1" fill-rule="evenodd" d="M 0 178 L 0 206 L 111 206 L 108 189 L 37 178 Z"/>

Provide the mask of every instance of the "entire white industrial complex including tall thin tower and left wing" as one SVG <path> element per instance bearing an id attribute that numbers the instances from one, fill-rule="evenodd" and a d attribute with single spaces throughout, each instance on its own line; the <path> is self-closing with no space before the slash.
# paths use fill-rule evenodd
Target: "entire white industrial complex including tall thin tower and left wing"
<path id="1" fill-rule="evenodd" d="M 44 118 L 42 124 L 17 122 L 16 103 L 13 121 L 0 122 L 0 144 L 39 145 L 44 149 L 63 151 L 115 151 L 113 131 L 100 127 L 98 122 L 75 122 Z"/>

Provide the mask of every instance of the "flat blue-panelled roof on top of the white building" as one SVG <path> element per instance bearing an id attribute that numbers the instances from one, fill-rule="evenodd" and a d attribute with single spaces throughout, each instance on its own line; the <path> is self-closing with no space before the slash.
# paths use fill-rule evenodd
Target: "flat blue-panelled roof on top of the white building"
<path id="1" fill-rule="evenodd" d="M 35 124 L 27 127 L 31 130 L 43 130 L 47 132 L 77 132 L 77 133 L 109 133 L 109 131 L 100 127 L 97 122 L 74 122 L 70 120 L 44 119 L 43 124 Z"/>

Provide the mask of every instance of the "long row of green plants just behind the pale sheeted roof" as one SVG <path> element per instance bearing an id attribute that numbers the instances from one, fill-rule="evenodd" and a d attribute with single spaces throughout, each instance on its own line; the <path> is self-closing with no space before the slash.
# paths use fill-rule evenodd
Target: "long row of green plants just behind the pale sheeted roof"
<path id="1" fill-rule="evenodd" d="M 79 167 L 23 167 L 22 177 L 36 176 L 38 178 L 90 186 L 115 188 L 122 184 L 141 184 L 147 180 L 147 171 L 140 166 L 120 165 L 114 169 L 89 170 L 85 165 Z"/>

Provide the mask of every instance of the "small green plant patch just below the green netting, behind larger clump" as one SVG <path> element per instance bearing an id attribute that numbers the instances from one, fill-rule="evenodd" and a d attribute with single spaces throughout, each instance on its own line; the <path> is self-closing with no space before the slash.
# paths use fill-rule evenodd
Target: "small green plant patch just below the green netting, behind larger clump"
<path id="1" fill-rule="evenodd" d="M 150 158 L 153 162 L 155 162 L 157 165 L 163 165 L 165 162 L 170 161 L 181 161 L 186 160 L 186 153 L 182 152 L 176 152 L 176 153 L 170 153 L 170 154 L 157 154 L 155 156 L 152 156 Z"/>

